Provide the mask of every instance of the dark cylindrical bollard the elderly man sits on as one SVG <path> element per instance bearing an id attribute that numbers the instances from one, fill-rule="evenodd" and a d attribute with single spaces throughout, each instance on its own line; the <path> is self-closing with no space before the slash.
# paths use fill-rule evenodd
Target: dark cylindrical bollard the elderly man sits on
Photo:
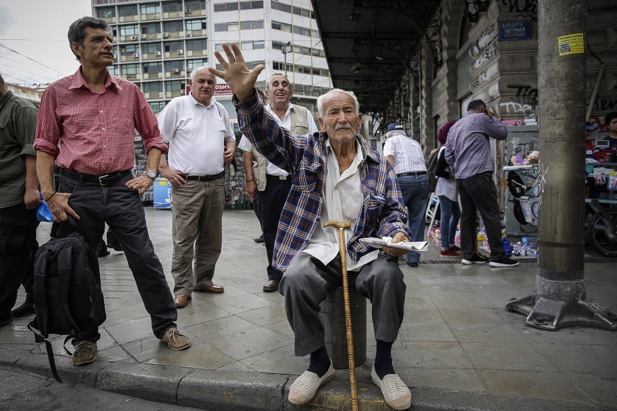
<path id="1" fill-rule="evenodd" d="M 366 362 L 366 298 L 355 289 L 349 289 L 351 325 L 354 334 L 354 360 L 359 367 Z M 337 370 L 349 369 L 347 354 L 347 330 L 342 287 L 328 291 L 320 304 L 319 317 L 326 331 L 326 350 Z"/>

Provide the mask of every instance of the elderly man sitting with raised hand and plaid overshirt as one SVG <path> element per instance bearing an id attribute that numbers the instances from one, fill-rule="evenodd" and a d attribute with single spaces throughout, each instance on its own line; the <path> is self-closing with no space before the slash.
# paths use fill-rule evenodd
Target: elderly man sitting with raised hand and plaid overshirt
<path id="1" fill-rule="evenodd" d="M 345 230 L 349 284 L 370 299 L 377 340 L 371 378 L 395 410 L 411 405 L 411 393 L 392 367 L 392 343 L 403 320 L 405 283 L 397 264 L 402 249 L 384 248 L 383 255 L 360 243 L 364 237 L 391 236 L 409 241 L 407 215 L 394 168 L 357 132 L 362 124 L 353 93 L 333 89 L 317 100 L 321 133 L 291 135 L 264 109 L 255 91 L 263 70 L 249 70 L 236 46 L 223 43 L 229 62 L 215 56 L 223 78 L 235 95 L 242 133 L 264 157 L 294 176 L 275 241 L 273 265 L 284 272 L 280 293 L 294 330 L 295 352 L 310 354 L 309 369 L 291 386 L 289 402 L 302 405 L 334 378 L 324 344 L 319 304 L 328 289 L 342 283 L 336 228 L 328 220 L 351 220 Z"/>

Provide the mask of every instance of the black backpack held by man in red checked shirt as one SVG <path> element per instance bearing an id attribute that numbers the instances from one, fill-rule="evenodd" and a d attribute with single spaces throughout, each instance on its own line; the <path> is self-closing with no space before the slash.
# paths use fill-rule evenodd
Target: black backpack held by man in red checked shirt
<path id="1" fill-rule="evenodd" d="M 35 319 L 28 324 L 36 342 L 44 342 L 54 378 L 62 383 L 56 370 L 49 334 L 67 334 L 67 341 L 83 330 L 94 330 L 105 319 L 105 303 L 101 291 L 101 273 L 94 251 L 77 230 L 65 238 L 52 238 L 35 256 Z M 36 333 L 33 328 L 39 330 Z"/>

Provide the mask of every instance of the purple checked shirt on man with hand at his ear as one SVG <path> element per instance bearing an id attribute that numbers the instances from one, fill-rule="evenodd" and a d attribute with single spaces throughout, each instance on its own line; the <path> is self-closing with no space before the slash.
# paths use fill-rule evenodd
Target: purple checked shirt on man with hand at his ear
<path id="1" fill-rule="evenodd" d="M 445 160 L 457 180 L 493 171 L 489 137 L 505 140 L 508 130 L 497 117 L 465 112 L 448 132 Z"/>

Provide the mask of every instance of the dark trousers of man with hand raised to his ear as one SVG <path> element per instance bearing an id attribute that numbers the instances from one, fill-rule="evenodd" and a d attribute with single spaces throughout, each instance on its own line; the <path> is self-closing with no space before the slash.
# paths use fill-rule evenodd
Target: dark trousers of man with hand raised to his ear
<path id="1" fill-rule="evenodd" d="M 458 194 L 461 197 L 461 252 L 464 259 L 476 255 L 476 209 L 482 215 L 486 238 L 491 247 L 491 261 L 507 257 L 503 251 L 501 214 L 497 202 L 497 188 L 493 173 L 479 173 L 470 178 L 457 179 Z"/>

